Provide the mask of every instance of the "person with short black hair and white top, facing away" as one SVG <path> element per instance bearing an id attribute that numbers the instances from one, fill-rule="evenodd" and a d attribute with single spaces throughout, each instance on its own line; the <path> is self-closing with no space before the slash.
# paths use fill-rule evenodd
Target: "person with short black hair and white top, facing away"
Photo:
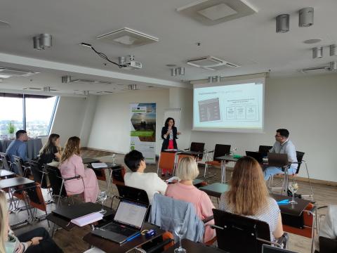
<path id="1" fill-rule="evenodd" d="M 146 164 L 143 154 L 138 150 L 131 150 L 124 157 L 124 163 L 132 172 L 124 175 L 124 183 L 126 186 L 145 190 L 152 203 L 154 193 L 165 194 L 167 184 L 162 181 L 157 173 L 145 173 Z"/>

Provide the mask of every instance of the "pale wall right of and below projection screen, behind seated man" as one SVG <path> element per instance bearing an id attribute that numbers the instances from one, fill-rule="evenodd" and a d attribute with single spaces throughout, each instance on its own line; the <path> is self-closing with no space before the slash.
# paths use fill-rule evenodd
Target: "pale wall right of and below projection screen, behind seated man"
<path id="1" fill-rule="evenodd" d="M 337 75 L 267 79 L 265 86 L 265 133 L 230 134 L 192 131 L 191 141 L 230 144 L 238 153 L 272 145 L 275 130 L 289 129 L 296 149 L 305 152 L 313 179 L 337 181 L 336 125 Z M 192 114 L 192 111 L 190 112 Z M 304 176 L 304 167 L 300 176 Z"/>

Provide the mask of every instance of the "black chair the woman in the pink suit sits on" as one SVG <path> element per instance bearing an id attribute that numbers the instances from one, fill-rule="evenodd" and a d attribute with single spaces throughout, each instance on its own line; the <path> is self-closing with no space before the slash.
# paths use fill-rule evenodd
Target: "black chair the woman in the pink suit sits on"
<path id="1" fill-rule="evenodd" d="M 82 193 L 79 193 L 79 194 L 70 195 L 67 193 L 67 190 L 65 189 L 65 181 L 72 180 L 72 179 L 81 179 L 83 182 L 83 186 L 84 186 L 84 181 L 81 178 L 81 176 L 73 176 L 68 179 L 63 179 L 60 169 L 58 169 L 57 167 L 50 166 L 50 165 L 46 165 L 46 171 L 48 173 L 48 178 L 51 183 L 51 188 L 53 189 L 53 196 L 58 197 L 58 203 L 56 207 L 58 207 L 61 198 L 67 198 L 68 205 L 70 205 L 70 202 L 69 202 L 70 197 L 74 197 L 76 195 L 82 194 Z"/>

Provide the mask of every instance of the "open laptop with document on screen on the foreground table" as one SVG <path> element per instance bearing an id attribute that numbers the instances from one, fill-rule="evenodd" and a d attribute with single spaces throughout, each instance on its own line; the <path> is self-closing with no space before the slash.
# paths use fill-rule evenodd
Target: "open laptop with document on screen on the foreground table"
<path id="1" fill-rule="evenodd" d="M 126 242 L 142 230 L 147 208 L 148 205 L 121 198 L 114 220 L 91 233 L 119 244 Z"/>

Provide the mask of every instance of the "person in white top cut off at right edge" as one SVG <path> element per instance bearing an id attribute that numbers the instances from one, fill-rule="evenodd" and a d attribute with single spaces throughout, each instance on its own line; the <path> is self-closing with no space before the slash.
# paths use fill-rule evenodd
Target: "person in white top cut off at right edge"
<path id="1" fill-rule="evenodd" d="M 319 226 L 319 233 L 315 238 L 315 249 L 317 252 L 319 252 L 319 236 L 337 239 L 337 205 L 329 205 L 325 219 Z"/>

